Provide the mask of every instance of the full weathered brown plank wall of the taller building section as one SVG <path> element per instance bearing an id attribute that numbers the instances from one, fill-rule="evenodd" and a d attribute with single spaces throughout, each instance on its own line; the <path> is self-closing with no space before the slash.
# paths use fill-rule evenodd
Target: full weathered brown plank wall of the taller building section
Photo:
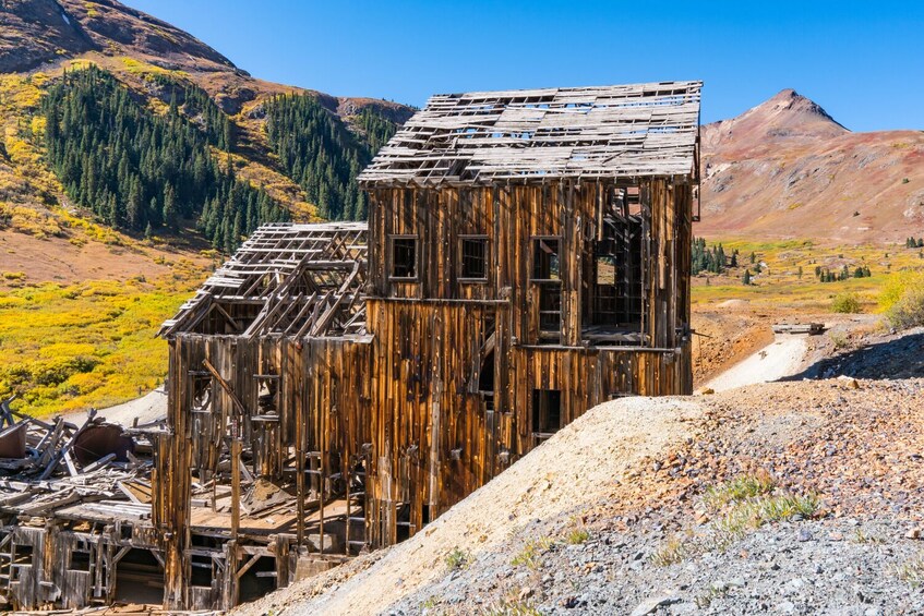
<path id="1" fill-rule="evenodd" d="M 583 259 L 613 182 L 372 191 L 368 330 L 373 351 L 370 540 L 409 534 L 531 449 L 533 389 L 561 392 L 562 424 L 621 395 L 692 391 L 692 186 L 648 179 L 643 224 L 643 347 L 581 340 Z M 487 235 L 488 280 L 459 280 L 459 237 Z M 391 279 L 391 238 L 417 243 L 417 280 Z M 560 343 L 539 345 L 531 241 L 557 237 Z M 493 408 L 478 390 L 485 319 L 494 339 Z"/>

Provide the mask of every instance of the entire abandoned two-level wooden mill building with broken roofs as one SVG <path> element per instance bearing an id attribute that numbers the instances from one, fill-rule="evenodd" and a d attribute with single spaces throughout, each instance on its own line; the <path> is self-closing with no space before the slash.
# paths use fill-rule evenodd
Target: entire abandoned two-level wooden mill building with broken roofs
<path id="1" fill-rule="evenodd" d="M 434 96 L 360 176 L 368 225 L 254 232 L 160 331 L 134 532 L 165 606 L 394 544 L 595 404 L 689 394 L 700 85 Z"/>

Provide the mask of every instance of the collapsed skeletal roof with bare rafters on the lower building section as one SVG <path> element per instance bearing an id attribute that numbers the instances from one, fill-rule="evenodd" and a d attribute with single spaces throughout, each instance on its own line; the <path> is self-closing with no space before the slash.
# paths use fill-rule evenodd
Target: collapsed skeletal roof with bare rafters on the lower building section
<path id="1" fill-rule="evenodd" d="M 261 226 L 160 327 L 181 333 L 288 337 L 365 334 L 368 225 Z"/>

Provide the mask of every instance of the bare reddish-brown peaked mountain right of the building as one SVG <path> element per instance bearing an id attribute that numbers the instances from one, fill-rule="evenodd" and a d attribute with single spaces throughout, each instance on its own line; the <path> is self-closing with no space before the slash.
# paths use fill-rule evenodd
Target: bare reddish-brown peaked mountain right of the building
<path id="1" fill-rule="evenodd" d="M 854 133 L 792 89 L 703 126 L 706 237 L 924 234 L 924 132 Z"/>

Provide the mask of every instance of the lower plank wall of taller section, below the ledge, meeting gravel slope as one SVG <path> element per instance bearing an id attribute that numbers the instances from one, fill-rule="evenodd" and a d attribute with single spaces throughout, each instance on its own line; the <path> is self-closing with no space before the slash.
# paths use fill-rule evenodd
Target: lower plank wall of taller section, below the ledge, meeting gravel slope
<path id="1" fill-rule="evenodd" d="M 373 361 L 374 473 L 370 482 L 370 539 L 398 536 L 401 506 L 410 534 L 483 485 L 537 443 L 533 389 L 557 389 L 562 424 L 614 395 L 692 390 L 689 346 L 669 351 L 619 348 L 499 348 L 490 413 L 473 387 L 481 370 L 484 314 L 494 314 L 499 338 L 509 333 L 509 311 L 497 306 L 370 300 L 376 324 Z M 500 454 L 506 454 L 501 456 Z"/>

